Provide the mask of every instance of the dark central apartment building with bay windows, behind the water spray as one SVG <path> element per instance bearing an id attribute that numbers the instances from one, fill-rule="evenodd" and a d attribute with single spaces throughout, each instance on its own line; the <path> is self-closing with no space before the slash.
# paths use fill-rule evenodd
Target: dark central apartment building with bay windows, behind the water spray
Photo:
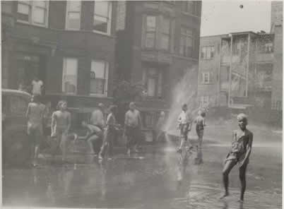
<path id="1" fill-rule="evenodd" d="M 117 71 L 146 89 L 138 107 L 151 130 L 170 108 L 174 85 L 199 64 L 201 1 L 120 1 L 118 8 Z M 197 89 L 198 67 L 194 73 Z"/>

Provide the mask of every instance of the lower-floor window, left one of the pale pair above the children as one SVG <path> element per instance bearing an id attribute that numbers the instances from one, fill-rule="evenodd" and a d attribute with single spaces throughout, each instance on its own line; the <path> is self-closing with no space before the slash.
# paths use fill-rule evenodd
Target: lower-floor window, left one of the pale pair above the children
<path id="1" fill-rule="evenodd" d="M 62 91 L 69 94 L 77 92 L 77 70 L 78 59 L 64 58 L 63 60 L 63 76 Z"/>

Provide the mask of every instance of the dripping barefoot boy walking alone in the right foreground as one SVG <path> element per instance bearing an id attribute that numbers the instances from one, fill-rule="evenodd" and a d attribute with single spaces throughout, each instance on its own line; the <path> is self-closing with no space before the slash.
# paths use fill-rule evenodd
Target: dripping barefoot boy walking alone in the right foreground
<path id="1" fill-rule="evenodd" d="M 221 198 L 229 195 L 229 174 L 231 169 L 238 164 L 239 180 L 241 181 L 241 195 L 239 202 L 244 201 L 244 191 L 246 190 L 246 171 L 249 164 L 249 155 L 252 152 L 253 133 L 247 129 L 247 115 L 239 114 L 237 116 L 239 129 L 233 131 L 232 148 L 227 154 L 223 168 L 223 183 L 225 193 Z"/>

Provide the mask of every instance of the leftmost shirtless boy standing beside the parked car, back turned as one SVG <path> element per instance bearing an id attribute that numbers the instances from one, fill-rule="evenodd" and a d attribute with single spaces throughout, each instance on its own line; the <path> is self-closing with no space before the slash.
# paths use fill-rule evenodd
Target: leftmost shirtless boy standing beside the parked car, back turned
<path id="1" fill-rule="evenodd" d="M 26 117 L 28 118 L 28 136 L 32 141 L 33 166 L 37 166 L 37 157 L 42 141 L 42 122 L 45 114 L 45 105 L 40 103 L 40 96 L 33 95 L 32 102 L 28 104 Z"/>

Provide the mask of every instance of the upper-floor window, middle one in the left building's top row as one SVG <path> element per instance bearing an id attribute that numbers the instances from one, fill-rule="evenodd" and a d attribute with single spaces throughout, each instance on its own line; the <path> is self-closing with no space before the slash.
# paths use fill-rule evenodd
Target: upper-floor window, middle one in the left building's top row
<path id="1" fill-rule="evenodd" d="M 67 1 L 66 29 L 80 30 L 81 25 L 81 1 Z"/>

